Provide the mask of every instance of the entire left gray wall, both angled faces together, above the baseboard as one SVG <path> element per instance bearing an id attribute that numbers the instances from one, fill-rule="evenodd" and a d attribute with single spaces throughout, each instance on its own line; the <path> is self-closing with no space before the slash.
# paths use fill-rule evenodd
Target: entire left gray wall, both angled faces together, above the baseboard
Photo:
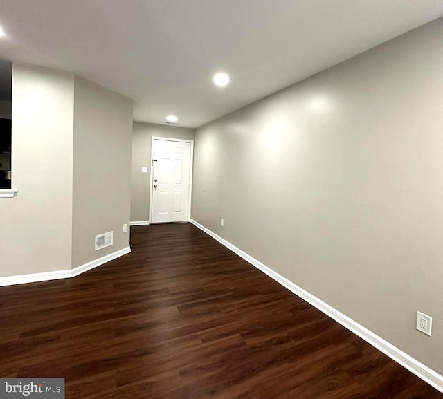
<path id="1" fill-rule="evenodd" d="M 0 277 L 67 270 L 129 245 L 132 100 L 14 64 L 12 187 L 0 198 Z M 128 232 L 122 233 L 122 224 Z M 96 234 L 114 245 L 95 251 Z"/>

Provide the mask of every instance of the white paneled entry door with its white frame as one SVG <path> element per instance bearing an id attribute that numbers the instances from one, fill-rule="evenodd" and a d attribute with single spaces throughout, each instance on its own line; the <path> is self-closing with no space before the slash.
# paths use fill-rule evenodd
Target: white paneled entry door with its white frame
<path id="1" fill-rule="evenodd" d="M 151 221 L 188 221 L 191 143 L 154 139 L 153 145 Z"/>

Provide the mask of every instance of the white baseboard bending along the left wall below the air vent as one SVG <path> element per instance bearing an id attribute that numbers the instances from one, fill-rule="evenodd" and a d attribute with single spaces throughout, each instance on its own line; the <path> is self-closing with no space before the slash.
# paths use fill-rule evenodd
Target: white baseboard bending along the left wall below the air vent
<path id="1" fill-rule="evenodd" d="M 53 272 L 42 272 L 42 273 L 32 273 L 30 275 L 19 275 L 10 277 L 0 277 L 0 286 L 13 286 L 15 284 L 26 284 L 35 283 L 37 281 L 48 281 L 48 280 L 58 280 L 58 279 L 69 279 L 70 277 L 75 277 L 81 275 L 88 270 L 96 268 L 104 263 L 113 261 L 125 254 L 131 252 L 131 247 L 128 245 L 123 250 L 118 250 L 112 252 L 111 254 L 105 255 L 104 257 L 98 258 L 95 261 L 84 263 L 82 266 L 78 266 L 74 269 L 69 270 L 55 270 Z"/>

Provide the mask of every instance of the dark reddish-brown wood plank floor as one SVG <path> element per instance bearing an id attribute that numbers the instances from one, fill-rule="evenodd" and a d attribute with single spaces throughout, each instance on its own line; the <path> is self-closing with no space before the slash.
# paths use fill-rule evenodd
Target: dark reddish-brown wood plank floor
<path id="1" fill-rule="evenodd" d="M 437 399 L 443 395 L 188 223 L 132 253 L 0 288 L 1 377 L 66 398 Z"/>

